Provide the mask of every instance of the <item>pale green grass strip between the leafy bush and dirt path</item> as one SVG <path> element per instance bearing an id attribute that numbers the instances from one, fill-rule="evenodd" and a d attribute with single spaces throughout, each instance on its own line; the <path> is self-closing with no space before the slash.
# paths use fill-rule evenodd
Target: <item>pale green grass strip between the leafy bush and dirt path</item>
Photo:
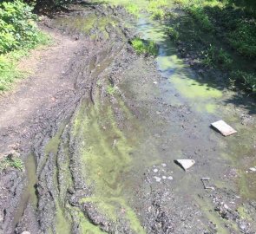
<path id="1" fill-rule="evenodd" d="M 48 45 L 51 42 L 48 35 L 40 32 L 40 40 L 30 49 L 35 49 L 40 45 Z M 0 55 L 0 94 L 10 90 L 15 81 L 26 76 L 25 72 L 18 70 L 16 67 L 21 58 L 30 54 L 30 49 L 16 49 L 5 55 Z"/>

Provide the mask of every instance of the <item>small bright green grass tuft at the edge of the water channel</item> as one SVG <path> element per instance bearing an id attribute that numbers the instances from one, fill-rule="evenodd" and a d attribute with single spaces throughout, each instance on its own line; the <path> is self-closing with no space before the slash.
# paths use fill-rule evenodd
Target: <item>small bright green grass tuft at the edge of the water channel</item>
<path id="1" fill-rule="evenodd" d="M 155 42 L 146 42 L 140 38 L 135 38 L 131 43 L 136 53 L 139 55 L 157 55 L 158 48 Z"/>

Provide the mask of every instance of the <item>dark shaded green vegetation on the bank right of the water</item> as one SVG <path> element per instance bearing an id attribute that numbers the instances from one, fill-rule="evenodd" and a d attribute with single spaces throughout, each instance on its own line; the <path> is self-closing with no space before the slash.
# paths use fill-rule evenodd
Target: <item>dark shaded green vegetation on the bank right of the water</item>
<path id="1" fill-rule="evenodd" d="M 182 42 L 208 68 L 220 68 L 231 86 L 255 92 L 256 3 L 236 0 L 174 0 L 187 16 L 172 16 L 167 35 Z M 179 25 L 179 27 L 177 27 Z"/>

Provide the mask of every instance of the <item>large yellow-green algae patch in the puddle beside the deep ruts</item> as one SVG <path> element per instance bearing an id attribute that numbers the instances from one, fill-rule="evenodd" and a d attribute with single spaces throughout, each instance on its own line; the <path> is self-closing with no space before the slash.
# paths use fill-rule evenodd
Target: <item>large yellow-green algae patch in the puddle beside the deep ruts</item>
<path id="1" fill-rule="evenodd" d="M 117 103 L 126 118 L 133 118 L 123 101 Z M 98 211 L 115 222 L 122 208 L 131 229 L 135 233 L 144 233 L 135 211 L 123 195 L 125 185 L 122 180 L 132 165 L 130 153 L 135 147 L 135 139 L 129 139 L 121 131 L 112 107 L 102 106 L 99 102 L 94 106 L 82 104 L 74 120 L 73 133 L 82 139 L 82 172 L 88 185 L 94 187 L 94 194 L 80 202 L 93 203 Z"/>

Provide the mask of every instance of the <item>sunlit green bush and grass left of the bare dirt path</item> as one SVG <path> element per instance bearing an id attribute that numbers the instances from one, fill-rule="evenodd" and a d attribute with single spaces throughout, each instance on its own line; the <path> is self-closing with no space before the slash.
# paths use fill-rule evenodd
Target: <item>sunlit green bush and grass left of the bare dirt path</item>
<path id="1" fill-rule="evenodd" d="M 20 0 L 0 3 L 0 92 L 9 90 L 13 81 L 24 74 L 16 69 L 18 60 L 29 49 L 49 43 L 36 26 L 32 8 Z"/>

